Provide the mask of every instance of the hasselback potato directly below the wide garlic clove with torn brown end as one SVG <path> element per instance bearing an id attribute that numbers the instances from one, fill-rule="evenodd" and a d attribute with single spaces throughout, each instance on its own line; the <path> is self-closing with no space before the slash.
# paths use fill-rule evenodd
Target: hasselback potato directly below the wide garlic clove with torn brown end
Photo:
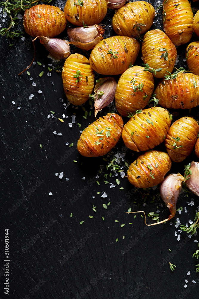
<path id="1" fill-rule="evenodd" d="M 99 42 L 90 54 L 90 65 L 99 74 L 118 75 L 134 63 L 139 42 L 128 36 L 112 36 Z"/>

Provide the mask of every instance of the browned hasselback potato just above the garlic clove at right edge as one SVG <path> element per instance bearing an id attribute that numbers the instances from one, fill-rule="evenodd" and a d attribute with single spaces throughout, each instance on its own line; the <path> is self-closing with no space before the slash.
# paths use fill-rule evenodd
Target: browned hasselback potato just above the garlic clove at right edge
<path id="1" fill-rule="evenodd" d="M 190 155 L 194 148 L 198 131 L 199 126 L 197 121 L 188 116 L 176 120 L 170 126 L 165 138 L 165 146 L 172 161 L 181 162 Z M 180 141 L 175 141 L 173 137 L 179 137 Z M 183 147 L 175 148 L 173 144 L 176 144 L 177 147 Z"/>

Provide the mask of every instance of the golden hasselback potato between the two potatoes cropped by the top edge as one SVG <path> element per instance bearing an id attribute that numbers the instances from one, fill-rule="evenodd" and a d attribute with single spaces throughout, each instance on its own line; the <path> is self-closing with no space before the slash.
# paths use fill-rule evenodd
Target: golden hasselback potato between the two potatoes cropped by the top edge
<path id="1" fill-rule="evenodd" d="M 145 1 L 129 2 L 116 10 L 112 19 L 115 33 L 123 36 L 137 37 L 145 33 L 153 24 L 154 7 Z"/>

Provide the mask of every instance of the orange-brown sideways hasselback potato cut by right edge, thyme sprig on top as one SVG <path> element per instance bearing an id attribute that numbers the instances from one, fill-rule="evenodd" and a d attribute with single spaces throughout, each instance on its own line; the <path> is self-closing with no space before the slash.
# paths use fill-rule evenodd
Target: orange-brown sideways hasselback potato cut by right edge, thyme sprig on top
<path id="1" fill-rule="evenodd" d="M 197 87 L 194 87 L 196 82 Z M 190 109 L 199 105 L 199 76 L 179 73 L 175 79 L 161 80 L 154 93 L 165 108 Z"/>

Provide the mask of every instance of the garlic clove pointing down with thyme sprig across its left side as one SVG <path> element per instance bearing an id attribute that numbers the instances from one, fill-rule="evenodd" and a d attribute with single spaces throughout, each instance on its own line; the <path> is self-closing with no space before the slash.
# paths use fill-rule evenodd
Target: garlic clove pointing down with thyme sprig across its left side
<path id="1" fill-rule="evenodd" d="M 112 103 L 115 97 L 115 91 L 117 87 L 117 82 L 112 77 L 100 78 L 100 82 L 96 83 L 94 92 L 104 91 L 104 95 L 101 95 L 100 98 L 96 97 L 95 100 L 95 117 L 99 111 L 107 107 Z"/>

